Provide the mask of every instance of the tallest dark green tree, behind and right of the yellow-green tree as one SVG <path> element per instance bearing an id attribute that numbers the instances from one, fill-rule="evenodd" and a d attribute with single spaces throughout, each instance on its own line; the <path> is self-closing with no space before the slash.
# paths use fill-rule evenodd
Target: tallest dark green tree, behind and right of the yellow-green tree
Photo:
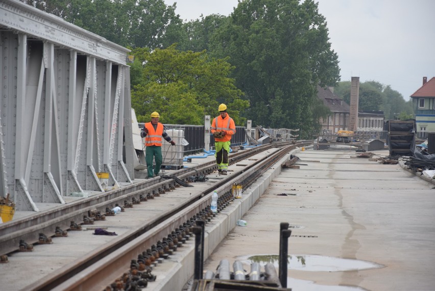
<path id="1" fill-rule="evenodd" d="M 340 77 L 325 18 L 313 1 L 239 2 L 213 34 L 210 49 L 236 67 L 254 124 L 312 131 L 317 84 L 332 85 Z"/>

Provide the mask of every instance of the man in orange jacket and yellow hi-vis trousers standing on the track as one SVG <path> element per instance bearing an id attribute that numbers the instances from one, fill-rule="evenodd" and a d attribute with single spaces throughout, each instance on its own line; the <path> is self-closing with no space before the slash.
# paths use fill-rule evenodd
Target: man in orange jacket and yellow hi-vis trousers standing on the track
<path id="1" fill-rule="evenodd" d="M 227 105 L 219 105 L 220 115 L 213 119 L 211 133 L 214 137 L 216 164 L 220 175 L 226 175 L 228 170 L 228 153 L 230 152 L 231 136 L 235 133 L 234 120 L 227 113 Z"/>

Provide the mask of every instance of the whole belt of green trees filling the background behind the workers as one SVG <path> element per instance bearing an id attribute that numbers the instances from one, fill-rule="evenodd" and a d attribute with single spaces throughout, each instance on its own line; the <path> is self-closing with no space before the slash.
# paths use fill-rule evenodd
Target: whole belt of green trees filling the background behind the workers
<path id="1" fill-rule="evenodd" d="M 132 104 L 142 121 L 160 110 L 166 123 L 202 124 L 224 102 L 238 125 L 249 118 L 309 137 L 328 114 L 316 85 L 340 79 L 326 19 L 312 0 L 240 0 L 230 16 L 186 23 L 176 3 L 163 0 L 20 1 L 132 49 Z M 334 93 L 349 102 L 350 82 Z M 412 101 L 377 81 L 360 84 L 359 102 L 386 119 L 413 114 Z"/>

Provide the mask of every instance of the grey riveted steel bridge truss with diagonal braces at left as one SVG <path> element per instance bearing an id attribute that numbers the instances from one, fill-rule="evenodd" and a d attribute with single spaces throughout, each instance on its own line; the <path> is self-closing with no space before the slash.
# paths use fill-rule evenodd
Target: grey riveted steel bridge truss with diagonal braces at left
<path id="1" fill-rule="evenodd" d="M 0 191 L 39 211 L 104 191 L 98 172 L 132 183 L 129 50 L 18 1 L 0 15 Z"/>

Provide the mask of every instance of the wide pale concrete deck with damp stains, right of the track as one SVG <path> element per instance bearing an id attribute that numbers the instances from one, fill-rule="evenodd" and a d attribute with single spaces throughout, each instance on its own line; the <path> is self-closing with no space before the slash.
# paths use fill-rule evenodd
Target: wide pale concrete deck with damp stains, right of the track
<path id="1" fill-rule="evenodd" d="M 278 254 L 279 224 L 288 222 L 301 226 L 291 228 L 289 255 L 351 260 L 335 271 L 289 266 L 287 287 L 294 291 L 435 290 L 432 183 L 399 165 L 355 159 L 349 151 L 306 150 L 297 156 L 306 165 L 274 178 L 242 218 L 247 227 L 236 226 L 204 270 L 214 271 L 221 259 Z M 359 269 L 359 261 L 376 267 Z"/>

